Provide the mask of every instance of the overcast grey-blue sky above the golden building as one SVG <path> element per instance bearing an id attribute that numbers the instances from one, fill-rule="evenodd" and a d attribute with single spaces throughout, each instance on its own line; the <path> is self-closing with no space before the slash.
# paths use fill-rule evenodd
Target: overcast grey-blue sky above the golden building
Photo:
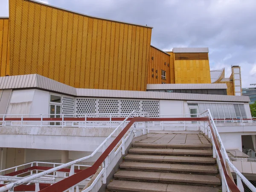
<path id="1" fill-rule="evenodd" d="M 256 0 L 38 0 L 50 5 L 124 22 L 153 26 L 151 44 L 209 47 L 211 69 L 241 66 L 242 86 L 256 83 Z M 0 16 L 8 16 L 0 0 Z"/>

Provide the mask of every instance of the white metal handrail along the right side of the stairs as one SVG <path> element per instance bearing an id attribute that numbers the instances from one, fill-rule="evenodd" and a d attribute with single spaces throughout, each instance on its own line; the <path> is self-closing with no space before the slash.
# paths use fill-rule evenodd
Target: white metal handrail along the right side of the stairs
<path id="1" fill-rule="evenodd" d="M 247 178 L 245 178 L 244 175 L 242 175 L 241 172 L 239 172 L 239 170 L 236 169 L 236 167 L 235 167 L 235 166 L 233 165 L 233 163 L 230 161 L 230 158 L 228 157 L 227 152 L 226 152 L 226 150 L 225 150 L 225 148 L 224 148 L 224 144 L 222 143 L 221 137 L 220 137 L 220 135 L 219 135 L 219 133 L 218 133 L 218 129 L 217 129 L 216 125 L 215 125 L 214 119 L 212 118 L 212 114 L 211 114 L 210 110 L 208 109 L 208 110 L 205 111 L 205 112 L 208 113 L 209 119 L 210 119 L 211 122 L 212 122 L 212 125 L 213 125 L 213 126 L 212 126 L 212 127 L 213 127 L 213 132 L 214 132 L 214 134 L 215 134 L 215 137 L 218 139 L 218 142 L 219 142 L 219 145 L 220 145 L 219 147 L 220 147 L 220 150 L 221 150 L 221 155 L 222 155 L 222 158 L 223 158 L 223 160 L 224 160 L 224 163 L 225 163 L 225 164 L 227 163 L 227 164 L 229 165 L 229 167 L 231 167 L 231 168 L 233 169 L 233 172 L 236 173 L 236 177 L 237 177 L 237 187 L 239 188 L 239 190 L 240 190 L 241 192 L 243 192 L 243 191 L 244 191 L 244 187 L 243 187 L 242 182 L 241 182 L 241 181 L 243 181 L 244 184 L 245 184 L 250 190 L 252 190 L 253 192 L 256 192 L 256 187 L 254 187 L 253 184 L 250 183 L 250 181 L 247 180 Z M 205 132 L 206 134 L 209 134 L 210 138 L 212 138 L 208 126 L 207 126 L 207 132 L 206 132 L 205 130 L 204 130 L 204 132 Z M 216 151 L 216 146 L 215 146 L 215 143 L 213 142 L 213 140 L 212 140 L 212 145 L 213 145 L 213 150 Z M 216 154 L 217 154 L 217 156 L 218 156 L 218 153 L 215 152 L 215 155 L 216 155 Z M 219 160 L 219 159 L 220 159 L 220 157 L 218 157 L 217 160 Z M 217 162 L 218 162 L 218 161 L 217 161 Z M 218 165 L 219 165 L 219 168 L 220 168 L 221 163 L 218 163 Z M 220 171 L 221 171 L 221 178 L 222 178 L 222 191 L 228 191 L 228 192 L 230 192 L 230 189 L 229 189 L 229 187 L 227 186 L 227 180 L 226 180 L 226 178 L 225 178 L 225 176 L 224 176 L 223 169 L 225 169 L 225 168 L 223 168 L 223 167 L 221 166 L 221 170 L 220 170 Z M 225 183 L 225 186 L 224 186 L 224 183 Z"/>

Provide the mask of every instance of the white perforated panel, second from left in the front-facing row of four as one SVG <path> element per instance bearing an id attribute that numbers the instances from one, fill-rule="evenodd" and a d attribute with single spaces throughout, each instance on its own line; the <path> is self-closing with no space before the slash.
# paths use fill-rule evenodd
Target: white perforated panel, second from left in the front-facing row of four
<path id="1" fill-rule="evenodd" d="M 98 113 L 119 113 L 118 99 L 97 99 Z"/>

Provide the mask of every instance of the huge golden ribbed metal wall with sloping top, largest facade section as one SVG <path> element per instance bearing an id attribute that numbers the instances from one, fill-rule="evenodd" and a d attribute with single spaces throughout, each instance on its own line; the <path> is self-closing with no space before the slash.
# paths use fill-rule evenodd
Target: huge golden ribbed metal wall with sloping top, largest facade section
<path id="1" fill-rule="evenodd" d="M 11 75 L 79 87 L 145 90 L 151 28 L 9 0 Z"/>

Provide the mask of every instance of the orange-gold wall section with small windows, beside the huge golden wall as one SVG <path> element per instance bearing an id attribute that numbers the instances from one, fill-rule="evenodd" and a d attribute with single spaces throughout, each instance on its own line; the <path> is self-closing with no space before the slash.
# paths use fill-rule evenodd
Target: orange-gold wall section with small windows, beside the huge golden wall
<path id="1" fill-rule="evenodd" d="M 148 62 L 148 84 L 171 83 L 170 55 L 150 46 Z M 166 79 L 161 78 L 161 71 L 166 72 Z"/>

